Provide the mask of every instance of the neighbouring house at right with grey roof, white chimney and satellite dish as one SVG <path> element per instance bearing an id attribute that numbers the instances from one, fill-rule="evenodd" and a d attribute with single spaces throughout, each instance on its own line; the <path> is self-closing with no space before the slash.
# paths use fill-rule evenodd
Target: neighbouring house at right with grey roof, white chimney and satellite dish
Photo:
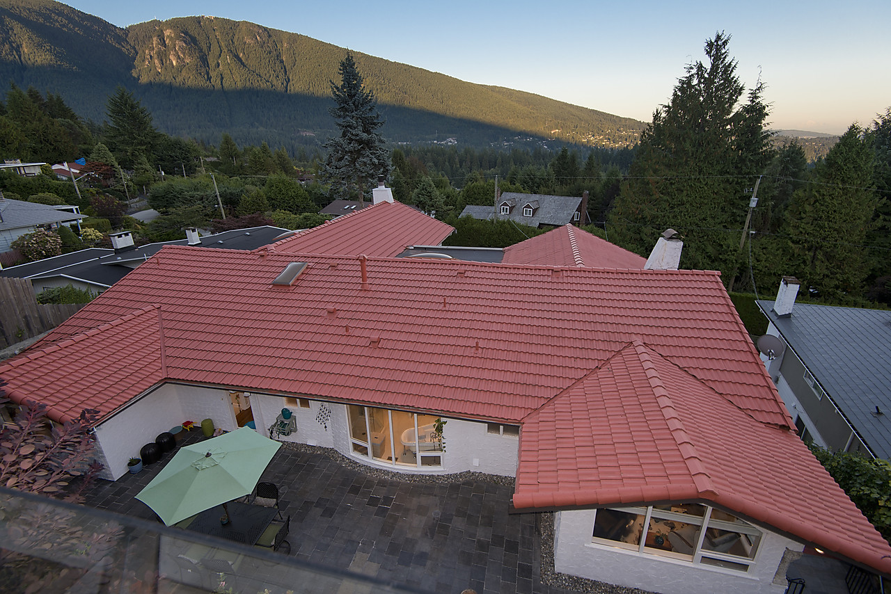
<path id="1" fill-rule="evenodd" d="M 779 352 L 762 359 L 805 442 L 891 459 L 891 312 L 795 303 L 785 277 L 758 301 Z"/>

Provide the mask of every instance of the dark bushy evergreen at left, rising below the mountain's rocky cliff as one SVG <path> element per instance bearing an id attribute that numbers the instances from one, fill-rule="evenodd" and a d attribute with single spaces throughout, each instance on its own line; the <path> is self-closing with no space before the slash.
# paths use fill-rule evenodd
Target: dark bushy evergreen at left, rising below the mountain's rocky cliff
<path id="1" fill-rule="evenodd" d="M 106 129 L 110 149 L 118 154 L 122 166 L 134 167 L 140 156 L 154 157 L 159 132 L 151 123 L 149 110 L 132 93 L 119 85 L 106 103 L 106 114 L 110 119 Z"/>

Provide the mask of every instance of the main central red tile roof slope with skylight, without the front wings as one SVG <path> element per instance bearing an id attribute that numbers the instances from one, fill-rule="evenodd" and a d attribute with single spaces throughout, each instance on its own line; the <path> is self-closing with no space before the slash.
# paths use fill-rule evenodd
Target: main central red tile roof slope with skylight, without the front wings
<path id="1" fill-rule="evenodd" d="M 791 423 L 716 273 L 369 258 L 362 289 L 356 257 L 208 251 L 162 249 L 40 346 L 159 305 L 170 378 L 516 422 L 644 337 Z"/>

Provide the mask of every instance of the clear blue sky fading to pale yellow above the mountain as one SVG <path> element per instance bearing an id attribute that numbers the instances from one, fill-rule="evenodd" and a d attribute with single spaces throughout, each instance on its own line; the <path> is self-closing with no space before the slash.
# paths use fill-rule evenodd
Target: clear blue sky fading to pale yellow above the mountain
<path id="1" fill-rule="evenodd" d="M 244 2 L 77 0 L 126 27 L 208 14 L 649 122 L 717 30 L 774 128 L 839 134 L 891 107 L 891 2 Z"/>

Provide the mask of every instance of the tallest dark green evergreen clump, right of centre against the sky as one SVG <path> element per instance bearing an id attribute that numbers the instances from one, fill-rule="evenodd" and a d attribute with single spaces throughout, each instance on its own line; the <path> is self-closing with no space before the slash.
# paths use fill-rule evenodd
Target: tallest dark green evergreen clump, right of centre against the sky
<path id="1" fill-rule="evenodd" d="M 653 113 L 609 216 L 609 238 L 642 255 L 674 228 L 686 238 L 682 266 L 721 270 L 724 279 L 740 264 L 732 230 L 746 218 L 747 189 L 772 159 L 764 85 L 740 103 L 745 85 L 729 42 L 723 32 L 707 40 L 707 63 L 689 64 Z"/>

